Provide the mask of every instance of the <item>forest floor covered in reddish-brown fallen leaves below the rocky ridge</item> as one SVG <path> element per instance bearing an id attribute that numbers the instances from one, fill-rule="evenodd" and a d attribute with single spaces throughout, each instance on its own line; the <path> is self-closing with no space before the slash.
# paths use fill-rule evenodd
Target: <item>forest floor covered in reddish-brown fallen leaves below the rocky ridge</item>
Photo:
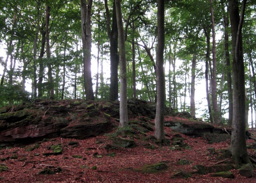
<path id="1" fill-rule="evenodd" d="M 168 117 L 171 120 L 175 117 Z M 181 118 L 179 118 L 182 120 Z M 177 120 L 177 118 L 176 118 Z M 184 119 L 185 121 L 185 119 Z M 153 120 L 152 120 L 153 122 Z M 114 131 L 112 132 L 114 133 Z M 171 139 L 177 132 L 165 127 L 167 138 Z M 251 132 L 255 137 L 255 133 Z M 147 135 L 154 135 L 148 132 Z M 209 144 L 203 137 L 192 138 L 180 134 L 191 149 L 172 151 L 170 146 L 159 146 L 153 144 L 152 149 L 143 145 L 142 141 L 136 140 L 135 148 L 118 148 L 107 150 L 104 148 L 109 141 L 109 136 L 101 135 L 85 140 L 53 138 L 44 141 L 33 151 L 26 149 L 31 145 L 23 147 L 7 147 L 0 149 L 1 165 L 8 167 L 8 170 L 0 170 L 0 182 L 162 182 L 162 183 L 200 183 L 200 182 L 225 182 L 225 183 L 249 183 L 256 182 L 256 171 L 252 178 L 246 178 L 238 173 L 238 170 L 230 170 L 235 178 L 211 177 L 210 174 L 199 175 L 194 173 L 190 178 L 172 178 L 178 171 L 193 172 L 195 165 L 216 165 L 221 164 L 222 159 L 217 155 L 211 155 L 208 147 L 226 149 L 229 141 Z M 68 145 L 70 141 L 79 142 L 78 145 Z M 102 142 L 102 143 L 101 143 Z M 253 140 L 247 140 L 247 144 L 252 144 Z M 44 156 L 43 153 L 52 152 L 50 147 L 60 143 L 63 146 L 62 154 Z M 109 157 L 110 153 L 116 155 Z M 253 149 L 248 149 L 249 153 L 255 154 Z M 73 157 L 80 155 L 80 157 Z M 179 165 L 179 160 L 186 159 L 187 165 Z M 143 167 L 146 164 L 165 162 L 168 168 L 163 171 L 146 172 Z M 41 175 L 42 170 L 51 170 L 47 175 Z"/>

